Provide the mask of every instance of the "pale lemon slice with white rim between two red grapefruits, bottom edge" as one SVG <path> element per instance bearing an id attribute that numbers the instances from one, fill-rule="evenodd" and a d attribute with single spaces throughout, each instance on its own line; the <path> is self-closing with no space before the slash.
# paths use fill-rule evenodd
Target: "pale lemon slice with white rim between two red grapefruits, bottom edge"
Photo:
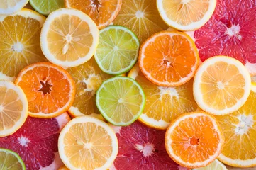
<path id="1" fill-rule="evenodd" d="M 67 123 L 60 132 L 58 147 L 60 158 L 69 169 L 108 169 L 118 153 L 113 129 L 90 116 Z"/>

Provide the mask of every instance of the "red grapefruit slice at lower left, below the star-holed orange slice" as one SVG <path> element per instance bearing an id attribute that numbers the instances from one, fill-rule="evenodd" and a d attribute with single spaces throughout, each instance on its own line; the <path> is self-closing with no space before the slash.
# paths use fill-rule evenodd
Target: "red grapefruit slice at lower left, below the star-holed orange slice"
<path id="1" fill-rule="evenodd" d="M 67 113 L 57 118 L 28 116 L 26 123 L 13 135 L 0 137 L 0 147 L 17 152 L 28 170 L 58 169 L 63 166 L 57 149 L 60 130 L 70 120 Z"/>

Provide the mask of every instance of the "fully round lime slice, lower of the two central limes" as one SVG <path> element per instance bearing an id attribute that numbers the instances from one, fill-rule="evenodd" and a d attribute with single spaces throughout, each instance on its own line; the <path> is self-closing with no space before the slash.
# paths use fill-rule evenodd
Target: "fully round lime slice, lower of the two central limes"
<path id="1" fill-rule="evenodd" d="M 143 113 L 145 94 L 135 80 L 129 77 L 113 77 L 99 87 L 96 106 L 108 122 L 126 126 Z"/>

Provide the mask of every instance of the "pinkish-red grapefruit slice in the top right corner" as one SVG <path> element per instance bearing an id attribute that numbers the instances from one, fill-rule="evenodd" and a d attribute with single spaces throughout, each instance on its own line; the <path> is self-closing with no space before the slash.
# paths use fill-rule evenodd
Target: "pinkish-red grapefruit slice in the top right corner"
<path id="1" fill-rule="evenodd" d="M 255 1 L 218 0 L 211 19 L 199 30 L 189 32 L 204 60 L 227 55 L 256 73 Z"/>

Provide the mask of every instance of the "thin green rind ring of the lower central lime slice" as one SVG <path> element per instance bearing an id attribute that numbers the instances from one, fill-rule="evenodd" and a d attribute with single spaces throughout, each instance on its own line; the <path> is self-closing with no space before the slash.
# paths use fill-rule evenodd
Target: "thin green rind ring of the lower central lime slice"
<path id="1" fill-rule="evenodd" d="M 101 93 L 101 89 L 106 89 L 105 84 L 111 82 L 111 81 L 115 81 L 116 79 L 123 79 L 123 80 L 129 80 L 131 82 L 133 82 L 133 85 L 137 86 L 142 98 L 142 101 L 140 103 L 140 110 L 138 111 L 138 113 L 136 113 L 135 115 L 133 115 L 133 118 L 128 120 L 127 122 L 115 122 L 112 118 L 109 118 L 108 115 L 106 115 L 105 111 L 101 108 L 101 104 L 99 103 L 99 99 L 101 98 L 100 93 Z M 106 100 L 108 100 L 106 98 Z M 96 92 L 96 106 L 99 109 L 101 115 L 111 124 L 116 125 L 116 126 L 127 126 L 130 125 L 132 123 L 135 122 L 135 120 L 137 120 L 140 115 L 143 113 L 143 110 L 145 108 L 145 94 L 144 91 L 142 89 L 142 87 L 140 86 L 140 84 L 138 84 L 134 79 L 131 79 L 130 77 L 120 77 L 120 76 L 116 76 L 116 77 L 112 77 L 111 79 L 107 79 L 106 81 L 104 81 L 101 86 L 99 87 L 99 90 Z"/>

